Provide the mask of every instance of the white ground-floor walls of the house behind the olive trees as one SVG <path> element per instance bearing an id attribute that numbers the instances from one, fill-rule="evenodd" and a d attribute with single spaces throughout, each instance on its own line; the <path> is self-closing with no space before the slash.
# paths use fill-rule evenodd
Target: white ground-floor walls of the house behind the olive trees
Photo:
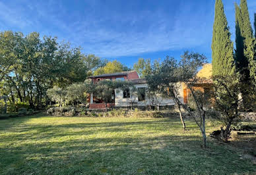
<path id="1" fill-rule="evenodd" d="M 181 84 L 179 84 L 179 99 L 181 102 L 183 102 L 183 89 L 181 88 Z M 135 84 L 135 88 L 147 88 L 147 84 Z M 160 95 L 156 94 L 157 101 L 160 102 L 160 106 L 172 106 L 175 105 L 175 102 L 173 99 L 166 99 L 160 97 Z M 129 107 L 131 106 L 131 101 L 133 101 L 133 104 L 135 106 L 146 106 L 151 104 L 151 99 L 148 97 L 145 98 L 144 101 L 139 101 L 139 98 L 137 95 L 130 94 L 130 98 L 123 98 L 123 91 L 121 89 L 115 89 L 115 107 Z"/>

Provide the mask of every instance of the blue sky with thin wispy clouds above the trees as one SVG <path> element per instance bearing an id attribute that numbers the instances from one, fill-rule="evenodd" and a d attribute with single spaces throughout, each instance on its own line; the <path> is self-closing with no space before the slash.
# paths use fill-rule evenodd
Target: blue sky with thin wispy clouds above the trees
<path id="1" fill-rule="evenodd" d="M 234 3 L 222 0 L 234 40 Z M 256 1 L 247 0 L 251 21 Z M 179 58 L 183 51 L 211 61 L 214 0 L 1 0 L 0 30 L 57 36 L 132 66 L 138 58 Z"/>

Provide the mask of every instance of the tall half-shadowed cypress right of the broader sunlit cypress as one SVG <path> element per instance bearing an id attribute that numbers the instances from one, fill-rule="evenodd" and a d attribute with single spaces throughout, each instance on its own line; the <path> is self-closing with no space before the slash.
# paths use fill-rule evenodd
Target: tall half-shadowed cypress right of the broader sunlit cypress
<path id="1" fill-rule="evenodd" d="M 255 38 L 249 19 L 247 1 L 241 0 L 236 5 L 236 66 L 241 74 L 241 82 L 246 88 L 241 89 L 245 108 L 251 108 L 252 84 L 255 81 Z M 252 80 L 252 81 L 251 81 Z"/>

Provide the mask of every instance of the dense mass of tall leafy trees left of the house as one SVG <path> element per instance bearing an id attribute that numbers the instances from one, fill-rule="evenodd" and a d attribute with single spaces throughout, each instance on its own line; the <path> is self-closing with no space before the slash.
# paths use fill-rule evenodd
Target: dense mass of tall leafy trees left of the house
<path id="1" fill-rule="evenodd" d="M 40 109 L 50 102 L 48 89 L 83 82 L 103 63 L 69 43 L 58 43 L 57 37 L 0 32 L 0 96 Z"/>

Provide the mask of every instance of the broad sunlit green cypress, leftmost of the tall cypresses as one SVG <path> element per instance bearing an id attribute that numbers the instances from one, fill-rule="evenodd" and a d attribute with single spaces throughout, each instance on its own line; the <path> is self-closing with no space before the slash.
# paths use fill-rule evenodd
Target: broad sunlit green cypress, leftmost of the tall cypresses
<path id="1" fill-rule="evenodd" d="M 225 76 L 235 72 L 233 42 L 224 14 L 222 0 L 215 2 L 215 16 L 212 34 L 212 75 Z"/>

